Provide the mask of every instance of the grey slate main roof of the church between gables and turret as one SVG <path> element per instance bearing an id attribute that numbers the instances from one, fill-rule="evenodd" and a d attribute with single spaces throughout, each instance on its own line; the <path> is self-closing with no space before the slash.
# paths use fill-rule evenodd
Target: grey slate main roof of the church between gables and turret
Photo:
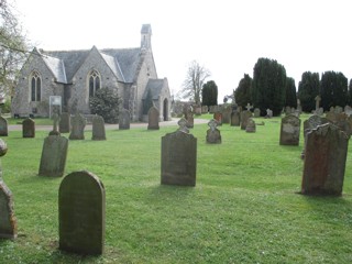
<path id="1" fill-rule="evenodd" d="M 50 51 L 42 52 L 43 59 L 53 72 L 58 82 L 67 84 L 73 80 L 76 72 L 85 62 L 87 51 Z M 141 48 L 105 48 L 99 50 L 101 57 L 111 68 L 119 80 L 133 82 L 140 63 Z"/>

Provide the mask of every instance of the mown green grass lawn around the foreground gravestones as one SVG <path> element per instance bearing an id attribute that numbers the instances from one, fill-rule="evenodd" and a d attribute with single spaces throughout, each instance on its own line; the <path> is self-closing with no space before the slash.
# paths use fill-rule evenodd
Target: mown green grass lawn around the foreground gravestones
<path id="1" fill-rule="evenodd" d="M 302 138 L 280 146 L 279 119 L 257 121 L 265 125 L 256 133 L 223 124 L 218 145 L 206 144 L 207 124 L 195 125 L 194 188 L 160 184 L 161 138 L 176 127 L 109 130 L 105 142 L 87 131 L 70 141 L 65 174 L 87 169 L 106 187 L 101 256 L 58 251 L 62 178 L 37 176 L 47 132 L 10 132 L 1 162 L 19 238 L 0 240 L 0 263 L 351 263 L 351 153 L 342 197 L 299 195 Z"/>

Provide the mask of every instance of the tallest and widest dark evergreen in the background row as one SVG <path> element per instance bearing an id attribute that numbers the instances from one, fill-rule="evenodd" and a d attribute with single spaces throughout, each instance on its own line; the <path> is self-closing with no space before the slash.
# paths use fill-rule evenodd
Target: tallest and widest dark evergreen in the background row
<path id="1" fill-rule="evenodd" d="M 261 109 L 261 114 L 266 109 L 273 110 L 278 116 L 285 105 L 286 69 L 274 59 L 258 58 L 253 72 L 252 102 Z"/>

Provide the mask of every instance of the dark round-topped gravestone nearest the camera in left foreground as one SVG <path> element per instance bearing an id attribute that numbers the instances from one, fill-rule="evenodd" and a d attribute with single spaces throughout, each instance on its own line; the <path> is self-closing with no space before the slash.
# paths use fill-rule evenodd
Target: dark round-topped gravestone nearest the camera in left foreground
<path id="1" fill-rule="evenodd" d="M 106 191 L 86 170 L 67 175 L 58 190 L 59 249 L 78 254 L 103 253 Z"/>

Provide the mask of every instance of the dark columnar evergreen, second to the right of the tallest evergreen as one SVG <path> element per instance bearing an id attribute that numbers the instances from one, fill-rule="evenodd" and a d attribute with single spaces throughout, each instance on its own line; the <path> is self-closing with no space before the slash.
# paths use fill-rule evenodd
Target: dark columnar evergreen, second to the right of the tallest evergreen
<path id="1" fill-rule="evenodd" d="M 316 109 L 316 97 L 319 95 L 319 74 L 305 72 L 298 84 L 298 98 L 304 112 Z"/>

